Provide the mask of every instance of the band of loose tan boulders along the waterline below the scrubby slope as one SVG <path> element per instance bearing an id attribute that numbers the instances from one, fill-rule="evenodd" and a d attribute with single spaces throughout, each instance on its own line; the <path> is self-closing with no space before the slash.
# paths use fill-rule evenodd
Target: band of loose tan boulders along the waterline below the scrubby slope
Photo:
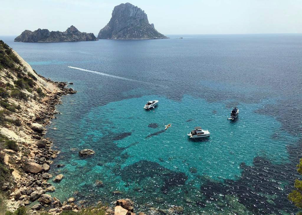
<path id="1" fill-rule="evenodd" d="M 39 112 L 35 113 L 30 119 L 22 119 L 26 124 L 24 129 L 28 131 L 32 138 L 32 143 L 26 146 L 28 155 L 18 156 L 18 153 L 13 150 L 5 150 L 6 154 L 10 154 L 9 160 L 14 159 L 14 162 L 9 163 L 16 164 L 11 167 L 18 172 L 13 174 L 14 192 L 10 193 L 6 205 L 9 211 L 15 211 L 18 207 L 24 206 L 27 208 L 27 212 L 32 215 L 40 215 L 43 211 L 52 215 L 59 215 L 64 210 L 74 212 L 86 210 L 83 205 L 76 205 L 73 197 L 61 203 L 56 197 L 46 194 L 55 190 L 55 187 L 47 180 L 53 178 L 53 181 L 59 182 L 64 176 L 59 174 L 53 177 L 48 173 L 49 165 L 53 163 L 53 159 L 56 158 L 59 151 L 51 149 L 52 141 L 49 140 L 49 137 L 44 138 L 46 134 L 45 126 L 50 123 L 52 118 L 55 118 L 55 114 L 58 114 L 55 105 L 61 104 L 61 96 L 74 94 L 76 91 L 72 88 L 65 88 L 67 86 L 66 82 L 53 82 L 40 75 L 39 77 L 53 84 L 57 90 L 41 100 L 41 110 Z M 94 151 L 90 149 L 79 151 L 79 156 L 82 157 L 92 154 L 94 154 Z M 7 184 L 7 187 L 4 188 L 11 189 L 12 187 Z M 9 192 L 10 190 L 8 190 Z M 28 206 L 35 201 L 37 201 L 36 204 L 31 207 Z M 96 204 L 100 204 L 100 202 Z M 133 213 L 133 209 L 133 202 L 130 199 L 117 200 L 114 208 L 108 206 L 95 208 L 95 210 L 103 210 L 106 215 L 136 215 L 136 213 Z M 137 214 L 146 215 L 143 212 Z"/>

